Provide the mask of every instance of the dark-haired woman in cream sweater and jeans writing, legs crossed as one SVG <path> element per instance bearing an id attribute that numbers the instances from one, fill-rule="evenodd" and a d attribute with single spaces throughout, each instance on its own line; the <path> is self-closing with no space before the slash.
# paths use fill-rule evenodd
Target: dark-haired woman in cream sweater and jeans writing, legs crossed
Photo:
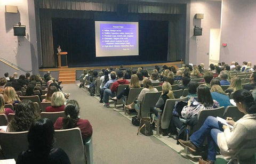
<path id="1" fill-rule="evenodd" d="M 252 143 L 255 147 L 256 139 L 256 104 L 253 101 L 252 94 L 245 89 L 238 90 L 234 93 L 234 101 L 239 111 L 245 114 L 237 122 L 227 117 L 227 122 L 233 125 L 230 130 L 229 126 L 221 125 L 215 117 L 207 117 L 203 126 L 190 136 L 189 141 L 179 140 L 182 146 L 188 147 L 189 151 L 195 152 L 201 147 L 207 137 L 208 156 L 207 162 L 214 163 L 216 160 L 215 147 L 218 146 L 221 154 L 225 156 L 234 155 L 244 143 Z M 253 142 L 254 141 L 254 142 Z M 252 149 L 246 149 L 238 155 L 241 159 L 250 159 L 249 163 L 254 163 L 254 153 Z M 243 163 L 241 161 L 241 163 Z"/>

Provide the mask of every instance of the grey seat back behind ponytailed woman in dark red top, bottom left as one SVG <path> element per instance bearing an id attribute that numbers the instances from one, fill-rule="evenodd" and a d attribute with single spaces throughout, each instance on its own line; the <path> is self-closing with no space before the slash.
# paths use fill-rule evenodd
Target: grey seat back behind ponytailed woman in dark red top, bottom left
<path id="1" fill-rule="evenodd" d="M 85 149 L 79 128 L 55 130 L 55 148 L 63 149 L 70 163 L 86 163 Z"/>

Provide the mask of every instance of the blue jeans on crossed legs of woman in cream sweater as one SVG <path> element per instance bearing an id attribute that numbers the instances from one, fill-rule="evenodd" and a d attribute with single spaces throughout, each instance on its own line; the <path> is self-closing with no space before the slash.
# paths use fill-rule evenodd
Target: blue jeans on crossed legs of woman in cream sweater
<path id="1" fill-rule="evenodd" d="M 216 160 L 217 135 L 222 133 L 222 125 L 217 121 L 215 117 L 209 116 L 204 121 L 203 126 L 190 136 L 190 141 L 196 146 L 203 145 L 205 138 L 208 142 L 208 160 Z"/>

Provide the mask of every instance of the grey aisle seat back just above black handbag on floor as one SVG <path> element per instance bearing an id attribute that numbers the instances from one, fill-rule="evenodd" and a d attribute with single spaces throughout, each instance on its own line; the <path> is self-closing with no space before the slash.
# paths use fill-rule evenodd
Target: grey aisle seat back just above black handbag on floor
<path id="1" fill-rule="evenodd" d="M 141 103 L 140 113 L 138 113 L 138 116 L 149 117 L 150 107 L 156 105 L 161 93 L 162 92 L 146 93 L 143 102 Z"/>

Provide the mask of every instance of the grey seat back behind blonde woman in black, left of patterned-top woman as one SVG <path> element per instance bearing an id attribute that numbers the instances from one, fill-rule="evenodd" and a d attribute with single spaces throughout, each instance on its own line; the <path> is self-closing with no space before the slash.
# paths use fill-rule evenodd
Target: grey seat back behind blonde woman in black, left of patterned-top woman
<path id="1" fill-rule="evenodd" d="M 170 125 L 172 119 L 172 113 L 174 109 L 175 102 L 187 101 L 187 98 L 183 99 L 167 99 L 164 105 L 164 110 L 162 111 L 161 117 L 161 128 L 167 129 Z"/>

